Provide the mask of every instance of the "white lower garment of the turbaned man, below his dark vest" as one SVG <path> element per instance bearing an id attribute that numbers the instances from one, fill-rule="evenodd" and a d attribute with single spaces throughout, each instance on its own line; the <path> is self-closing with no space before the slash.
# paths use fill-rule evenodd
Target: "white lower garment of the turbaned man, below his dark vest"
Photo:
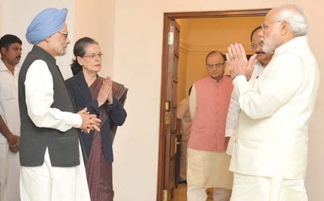
<path id="1" fill-rule="evenodd" d="M 52 167 L 48 148 L 44 164 L 21 167 L 22 201 L 90 201 L 86 169 L 79 145 L 80 165 Z"/>

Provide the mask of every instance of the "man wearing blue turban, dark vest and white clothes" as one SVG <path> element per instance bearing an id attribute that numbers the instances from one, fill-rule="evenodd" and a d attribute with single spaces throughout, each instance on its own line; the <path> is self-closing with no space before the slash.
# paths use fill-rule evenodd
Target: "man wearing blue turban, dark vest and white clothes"
<path id="1" fill-rule="evenodd" d="M 18 79 L 22 200 L 90 201 L 78 128 L 100 130 L 100 120 L 86 108 L 76 113 L 56 65 L 70 43 L 66 15 L 67 9 L 46 9 L 26 32 L 34 46 Z"/>

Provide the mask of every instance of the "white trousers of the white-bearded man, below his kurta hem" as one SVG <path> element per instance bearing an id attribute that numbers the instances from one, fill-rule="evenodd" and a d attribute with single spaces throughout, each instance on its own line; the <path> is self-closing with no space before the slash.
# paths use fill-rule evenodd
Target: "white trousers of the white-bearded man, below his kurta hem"
<path id="1" fill-rule="evenodd" d="M 307 201 L 304 179 L 258 177 L 234 173 L 231 201 Z"/>

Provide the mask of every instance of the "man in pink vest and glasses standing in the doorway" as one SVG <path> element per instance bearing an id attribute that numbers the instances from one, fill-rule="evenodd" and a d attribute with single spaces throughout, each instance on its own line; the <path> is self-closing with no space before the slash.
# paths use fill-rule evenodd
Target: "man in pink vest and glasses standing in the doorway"
<path id="1" fill-rule="evenodd" d="M 224 76 L 225 56 L 218 51 L 206 57 L 209 76 L 196 81 L 189 97 L 193 119 L 188 141 L 188 201 L 206 201 L 207 188 L 213 199 L 227 201 L 232 188 L 230 158 L 225 154 L 225 124 L 232 92 L 232 79 Z"/>

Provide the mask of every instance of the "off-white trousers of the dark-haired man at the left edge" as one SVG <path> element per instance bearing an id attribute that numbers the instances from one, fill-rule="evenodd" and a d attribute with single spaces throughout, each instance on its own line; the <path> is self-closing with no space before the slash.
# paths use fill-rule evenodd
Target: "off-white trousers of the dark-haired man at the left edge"
<path id="1" fill-rule="evenodd" d="M 12 153 L 8 143 L 0 144 L 0 201 L 19 201 L 19 152 Z"/>

